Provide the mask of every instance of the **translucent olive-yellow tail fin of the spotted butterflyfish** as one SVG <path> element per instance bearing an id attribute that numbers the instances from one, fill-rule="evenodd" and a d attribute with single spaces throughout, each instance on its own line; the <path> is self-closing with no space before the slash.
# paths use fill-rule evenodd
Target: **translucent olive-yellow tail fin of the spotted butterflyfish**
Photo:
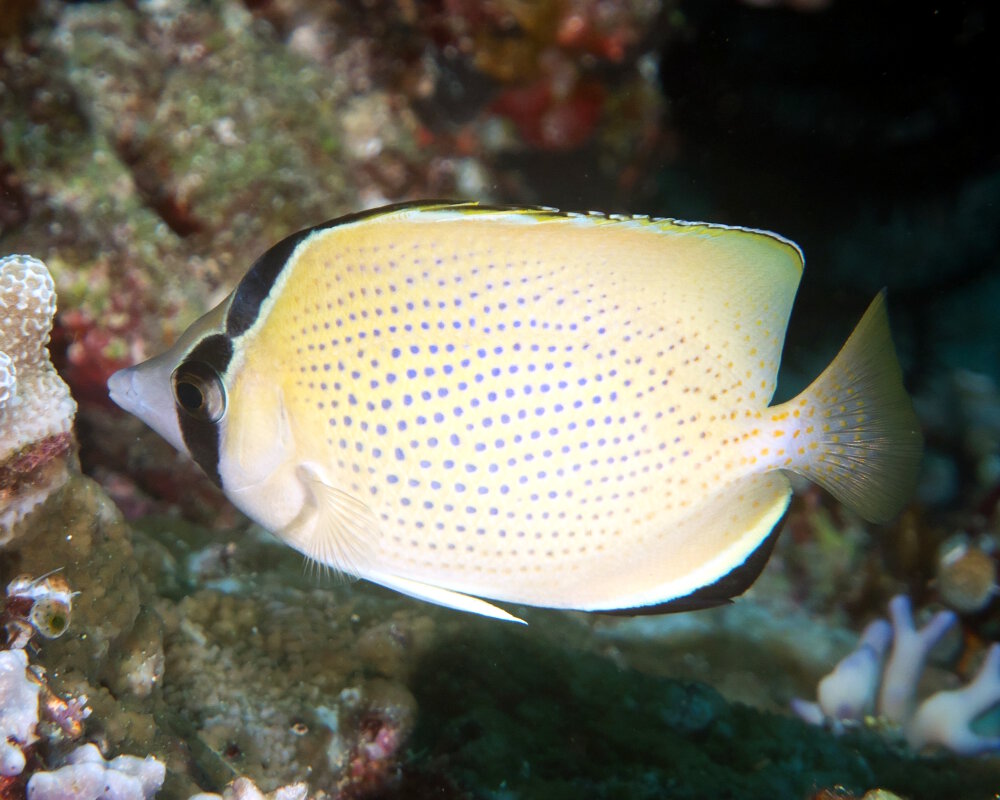
<path id="1" fill-rule="evenodd" d="M 923 436 L 903 388 L 885 290 L 830 366 L 792 403 L 814 409 L 809 438 L 815 446 L 790 469 L 870 522 L 899 513 L 917 482 Z"/>

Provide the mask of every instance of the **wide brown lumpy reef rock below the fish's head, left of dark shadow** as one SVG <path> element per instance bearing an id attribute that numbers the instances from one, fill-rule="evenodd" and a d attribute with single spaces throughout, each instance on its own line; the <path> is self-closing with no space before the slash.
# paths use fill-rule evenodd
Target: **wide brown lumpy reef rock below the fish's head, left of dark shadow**
<path id="1" fill-rule="evenodd" d="M 300 562 L 275 558 L 280 549 L 262 537 L 234 553 L 198 529 L 191 544 L 200 549 L 184 556 L 177 524 L 167 523 L 175 552 L 148 534 L 137 548 L 107 497 L 78 474 L 32 527 L 0 562 L 0 649 L 37 650 L 33 668 L 46 677 L 34 746 L 47 763 L 64 763 L 85 733 L 107 753 L 155 754 L 173 775 L 172 797 L 199 788 L 191 772 L 210 776 L 207 788 L 243 776 L 262 791 L 311 775 L 345 797 L 397 781 L 416 718 L 407 680 L 433 640 L 429 618 L 394 616 L 398 600 L 373 606 L 345 587 L 295 588 Z M 65 762 L 74 769 L 37 785 L 54 785 L 56 796 L 66 781 L 89 785 L 98 769 L 78 758 L 88 765 Z"/>

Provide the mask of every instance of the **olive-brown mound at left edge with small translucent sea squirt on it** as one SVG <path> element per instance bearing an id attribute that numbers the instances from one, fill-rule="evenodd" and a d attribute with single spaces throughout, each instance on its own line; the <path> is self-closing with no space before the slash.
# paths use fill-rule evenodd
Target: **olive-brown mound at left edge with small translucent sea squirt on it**
<path id="1" fill-rule="evenodd" d="M 32 669 L 44 676 L 39 748 L 46 762 L 59 763 L 85 731 L 105 752 L 164 746 L 156 697 L 130 688 L 138 654 L 160 645 L 156 626 L 141 624 L 155 612 L 140 613 L 149 589 L 120 514 L 93 481 L 71 472 L 30 525 L 32 535 L 0 559 L 3 641 L 30 647 Z"/>

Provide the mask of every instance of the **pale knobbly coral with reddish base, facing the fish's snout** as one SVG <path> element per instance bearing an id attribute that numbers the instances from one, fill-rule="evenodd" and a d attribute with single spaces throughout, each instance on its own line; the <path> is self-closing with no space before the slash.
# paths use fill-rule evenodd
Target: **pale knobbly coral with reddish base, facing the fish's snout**
<path id="1" fill-rule="evenodd" d="M 0 258 L 0 546 L 66 480 L 76 403 L 46 350 L 55 309 L 41 261 Z"/>

